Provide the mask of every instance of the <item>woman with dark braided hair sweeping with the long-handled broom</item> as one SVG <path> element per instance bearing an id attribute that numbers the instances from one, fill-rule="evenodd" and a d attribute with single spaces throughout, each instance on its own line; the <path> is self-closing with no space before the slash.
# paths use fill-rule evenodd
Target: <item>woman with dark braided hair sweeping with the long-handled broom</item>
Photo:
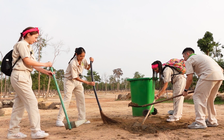
<path id="1" fill-rule="evenodd" d="M 90 57 L 90 61 L 93 62 L 93 58 Z M 80 78 L 83 69 L 90 69 L 90 65 L 87 63 L 85 59 L 85 50 L 82 47 L 75 49 L 75 54 L 71 58 L 68 63 L 68 67 L 66 69 L 66 73 L 64 75 L 64 106 L 67 109 L 69 107 L 72 92 L 74 91 L 76 97 L 76 105 L 78 109 L 78 120 L 85 120 L 86 119 L 86 110 L 85 110 L 85 96 L 84 96 L 84 89 L 82 83 L 94 86 L 95 82 L 88 82 L 82 80 Z M 63 127 L 64 123 L 64 112 L 62 106 L 60 106 L 60 110 L 58 113 L 56 126 Z M 86 123 L 90 123 L 90 121 L 86 120 Z"/>

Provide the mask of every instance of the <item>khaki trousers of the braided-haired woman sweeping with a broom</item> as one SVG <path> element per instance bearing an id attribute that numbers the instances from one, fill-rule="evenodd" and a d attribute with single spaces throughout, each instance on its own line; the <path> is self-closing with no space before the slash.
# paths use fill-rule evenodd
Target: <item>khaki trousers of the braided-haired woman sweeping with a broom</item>
<path id="1" fill-rule="evenodd" d="M 67 110 L 72 98 L 72 92 L 74 91 L 76 97 L 76 106 L 78 109 L 78 120 L 86 119 L 86 109 L 85 109 L 85 96 L 84 96 L 84 89 L 80 82 L 76 80 L 68 80 L 65 78 L 64 82 L 64 106 Z M 60 110 L 58 113 L 58 121 L 63 121 L 65 114 L 63 112 L 62 106 L 60 106 Z"/>

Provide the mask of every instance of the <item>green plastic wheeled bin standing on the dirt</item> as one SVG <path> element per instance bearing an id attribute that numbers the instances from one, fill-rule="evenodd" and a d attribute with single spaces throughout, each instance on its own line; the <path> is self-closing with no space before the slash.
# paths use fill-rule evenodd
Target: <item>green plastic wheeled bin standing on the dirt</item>
<path id="1" fill-rule="evenodd" d="M 155 98 L 155 82 L 152 78 L 135 78 L 127 79 L 131 86 L 131 101 L 138 105 L 150 104 Z M 149 110 L 150 106 L 147 107 L 132 107 L 133 116 L 143 116 L 145 109 Z M 151 113 L 154 111 L 154 106 L 151 109 Z"/>

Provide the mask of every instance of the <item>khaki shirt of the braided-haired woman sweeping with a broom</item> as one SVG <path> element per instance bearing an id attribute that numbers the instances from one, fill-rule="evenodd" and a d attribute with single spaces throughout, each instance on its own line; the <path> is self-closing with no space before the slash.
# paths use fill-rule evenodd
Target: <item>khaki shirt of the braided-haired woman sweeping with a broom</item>
<path id="1" fill-rule="evenodd" d="M 78 78 L 79 75 L 82 74 L 84 68 L 85 69 L 88 68 L 88 63 L 87 63 L 86 59 L 84 58 L 81 62 L 81 65 L 79 65 L 79 62 L 78 62 L 77 58 L 74 57 L 71 60 L 71 62 L 69 63 L 64 77 L 69 79 L 69 80 Z"/>

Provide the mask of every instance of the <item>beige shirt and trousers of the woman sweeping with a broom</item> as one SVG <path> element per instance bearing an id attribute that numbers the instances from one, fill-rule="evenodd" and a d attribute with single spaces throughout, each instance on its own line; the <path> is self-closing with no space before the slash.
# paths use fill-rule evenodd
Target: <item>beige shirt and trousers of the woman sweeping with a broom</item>
<path id="1" fill-rule="evenodd" d="M 78 78 L 79 75 L 82 74 L 84 68 L 88 68 L 88 63 L 86 59 L 84 58 L 81 62 L 81 65 L 79 65 L 77 58 L 74 57 L 74 59 L 72 59 L 69 63 L 66 69 L 66 73 L 64 75 L 64 106 L 67 110 L 72 98 L 72 92 L 74 91 L 76 97 L 76 105 L 78 109 L 78 120 L 86 119 L 84 89 L 82 86 L 82 82 L 75 80 L 75 78 Z M 64 117 L 65 115 L 63 112 L 63 108 L 62 106 L 60 106 L 60 110 L 58 113 L 58 121 L 63 121 Z"/>

